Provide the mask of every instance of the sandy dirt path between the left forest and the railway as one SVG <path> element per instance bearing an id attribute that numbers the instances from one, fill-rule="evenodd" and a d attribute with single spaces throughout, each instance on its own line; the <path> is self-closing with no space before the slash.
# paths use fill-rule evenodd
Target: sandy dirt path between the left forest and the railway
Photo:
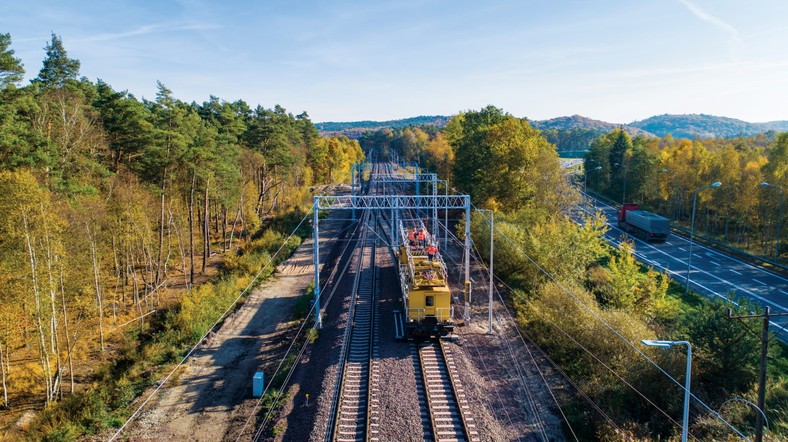
<path id="1" fill-rule="evenodd" d="M 345 226 L 341 211 L 320 223 L 321 264 Z M 292 309 L 313 280 L 311 238 L 278 268 L 274 278 L 255 289 L 181 368 L 176 381 L 160 390 L 155 403 L 132 425 L 129 440 L 235 440 L 256 403 L 252 377 L 279 362 L 286 345 Z M 266 383 L 268 378 L 266 378 Z"/>

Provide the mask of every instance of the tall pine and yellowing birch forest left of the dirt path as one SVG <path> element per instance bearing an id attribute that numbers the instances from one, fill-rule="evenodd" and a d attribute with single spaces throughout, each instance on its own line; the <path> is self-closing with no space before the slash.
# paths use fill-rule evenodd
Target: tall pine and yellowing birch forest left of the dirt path
<path id="1" fill-rule="evenodd" d="M 0 431 L 73 440 L 117 425 L 363 152 L 306 112 L 139 100 L 44 49 L 21 85 L 0 34 Z"/>

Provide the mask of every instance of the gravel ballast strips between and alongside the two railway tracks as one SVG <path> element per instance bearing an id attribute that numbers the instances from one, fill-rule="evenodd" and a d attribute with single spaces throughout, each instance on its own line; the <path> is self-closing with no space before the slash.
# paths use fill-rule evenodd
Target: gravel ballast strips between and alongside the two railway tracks
<path id="1" fill-rule="evenodd" d="M 461 256 L 460 247 L 449 248 L 449 262 L 459 262 Z M 345 259 L 338 264 L 344 266 Z M 378 362 L 382 375 L 380 406 L 384 416 L 380 434 L 383 441 L 420 441 L 424 439 L 422 410 L 416 396 L 411 344 L 395 342 L 393 337 L 392 311 L 400 308 L 395 265 L 390 253 L 379 249 L 378 317 L 381 322 Z M 461 281 L 462 266 L 450 264 L 449 267 L 451 280 Z M 352 263 L 348 268 L 353 268 Z M 472 278 L 476 286 L 471 306 L 472 322 L 457 327 L 456 342 L 448 344 L 459 369 L 460 382 L 468 395 L 477 430 L 485 441 L 563 441 L 561 420 L 539 369 L 548 382 L 557 383 L 559 380 L 545 361 L 531 356 L 532 353 L 536 355 L 535 349 L 521 340 L 500 302 L 495 304 L 494 334 L 487 334 L 485 275 L 486 271 L 481 266 L 473 266 Z M 326 284 L 324 293 L 333 286 L 336 286 L 336 293 L 326 309 L 324 328 L 317 342 L 310 346 L 300 361 L 291 380 L 290 400 L 280 414 L 275 435 L 269 440 L 324 439 L 353 276 L 349 271 L 341 281 Z M 457 284 L 454 286 L 459 295 Z M 462 306 L 455 306 L 455 309 L 459 318 Z M 306 394 L 309 394 L 308 404 Z"/>

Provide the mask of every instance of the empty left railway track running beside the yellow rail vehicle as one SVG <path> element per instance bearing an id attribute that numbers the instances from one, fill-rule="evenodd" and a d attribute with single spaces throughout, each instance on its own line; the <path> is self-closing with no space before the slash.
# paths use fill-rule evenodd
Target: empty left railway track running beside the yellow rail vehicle
<path id="1" fill-rule="evenodd" d="M 371 213 L 364 223 L 374 227 Z M 356 278 L 351 295 L 348 324 L 343 340 L 341 381 L 331 407 L 331 426 L 326 440 L 367 441 L 379 439 L 380 410 L 378 333 L 376 318 L 377 235 L 363 229 L 357 255 Z"/>

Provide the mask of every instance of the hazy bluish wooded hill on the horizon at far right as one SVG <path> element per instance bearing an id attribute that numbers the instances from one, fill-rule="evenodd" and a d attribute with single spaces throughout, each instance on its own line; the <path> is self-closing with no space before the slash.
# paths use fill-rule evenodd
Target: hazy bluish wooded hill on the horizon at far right
<path id="1" fill-rule="evenodd" d="M 670 134 L 674 138 L 730 138 L 740 135 L 757 135 L 768 131 L 788 131 L 788 121 L 748 123 L 735 118 L 704 114 L 658 115 L 635 121 L 629 126 L 648 131 L 659 137 Z"/>

